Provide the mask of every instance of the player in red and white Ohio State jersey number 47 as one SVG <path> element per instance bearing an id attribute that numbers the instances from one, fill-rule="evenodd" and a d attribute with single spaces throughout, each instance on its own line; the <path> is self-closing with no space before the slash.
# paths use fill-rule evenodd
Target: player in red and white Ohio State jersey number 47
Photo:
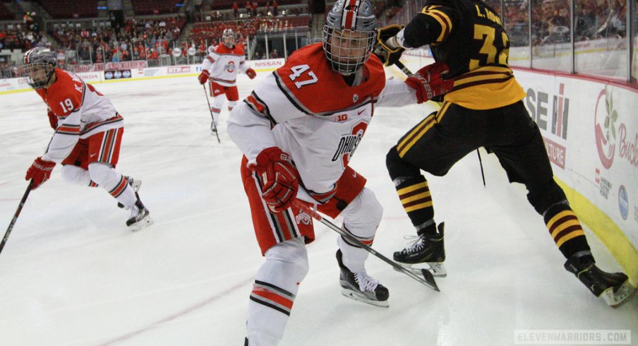
<path id="1" fill-rule="evenodd" d="M 375 35 L 369 0 L 336 1 L 323 44 L 294 52 L 231 112 L 228 133 L 244 154 L 241 177 L 265 256 L 248 303 L 246 345 L 279 342 L 308 272 L 305 244 L 315 236 L 311 217 L 293 205 L 299 186 L 321 213 L 340 215 L 345 231 L 372 244 L 383 208 L 349 160 L 375 107 L 421 103 L 452 87 L 440 80 L 441 65 L 405 83 L 385 80 L 371 56 Z M 368 252 L 343 237 L 337 244 L 343 294 L 387 306 L 387 288 L 366 273 Z"/>

